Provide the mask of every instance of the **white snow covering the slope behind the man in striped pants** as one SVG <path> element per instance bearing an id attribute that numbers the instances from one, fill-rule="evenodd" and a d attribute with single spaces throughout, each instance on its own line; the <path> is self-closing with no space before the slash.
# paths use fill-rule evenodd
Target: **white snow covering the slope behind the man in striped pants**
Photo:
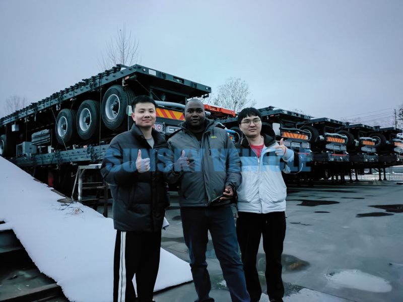
<path id="1" fill-rule="evenodd" d="M 116 231 L 105 218 L 62 197 L 0 157 L 0 217 L 29 256 L 71 301 L 112 300 Z M 161 249 L 155 290 L 192 280 L 188 263 Z"/>

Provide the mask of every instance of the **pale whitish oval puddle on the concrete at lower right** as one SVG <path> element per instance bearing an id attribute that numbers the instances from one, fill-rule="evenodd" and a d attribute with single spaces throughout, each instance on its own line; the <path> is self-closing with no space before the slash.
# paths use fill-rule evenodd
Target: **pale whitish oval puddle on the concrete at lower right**
<path id="1" fill-rule="evenodd" d="M 347 287 L 371 292 L 388 292 L 392 290 L 389 281 L 370 275 L 358 269 L 342 270 L 326 274 L 327 280 L 335 287 Z"/>

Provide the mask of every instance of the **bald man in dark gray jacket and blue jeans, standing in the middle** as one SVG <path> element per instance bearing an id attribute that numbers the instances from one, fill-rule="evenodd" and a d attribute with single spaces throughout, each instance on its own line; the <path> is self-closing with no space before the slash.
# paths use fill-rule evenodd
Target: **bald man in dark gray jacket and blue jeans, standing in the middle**
<path id="1" fill-rule="evenodd" d="M 183 236 L 196 301 L 214 301 L 209 296 L 206 262 L 208 231 L 232 301 L 249 301 L 230 206 L 240 184 L 240 160 L 233 142 L 217 122 L 206 119 L 203 103 L 192 99 L 185 107 L 185 122 L 168 145 L 173 151 L 168 182 L 179 183 Z"/>

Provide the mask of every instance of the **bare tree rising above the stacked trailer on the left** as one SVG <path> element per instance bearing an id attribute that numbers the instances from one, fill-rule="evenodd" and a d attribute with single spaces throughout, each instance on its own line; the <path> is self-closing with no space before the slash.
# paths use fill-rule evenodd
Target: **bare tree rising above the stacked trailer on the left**
<path id="1" fill-rule="evenodd" d="M 105 53 L 99 62 L 102 68 L 109 69 L 116 64 L 130 66 L 137 62 L 139 57 L 139 41 L 131 36 L 131 31 L 126 33 L 126 24 L 122 29 L 117 29 L 115 37 L 111 37 L 106 43 Z"/>

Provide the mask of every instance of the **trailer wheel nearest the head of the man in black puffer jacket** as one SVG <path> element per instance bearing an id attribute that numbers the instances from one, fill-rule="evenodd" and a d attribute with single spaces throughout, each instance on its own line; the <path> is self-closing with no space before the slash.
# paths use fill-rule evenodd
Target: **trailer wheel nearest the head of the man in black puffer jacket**
<path id="1" fill-rule="evenodd" d="M 127 105 L 131 104 L 135 94 L 119 85 L 108 88 L 101 104 L 101 116 L 104 125 L 111 130 L 118 129 L 126 117 Z"/>

